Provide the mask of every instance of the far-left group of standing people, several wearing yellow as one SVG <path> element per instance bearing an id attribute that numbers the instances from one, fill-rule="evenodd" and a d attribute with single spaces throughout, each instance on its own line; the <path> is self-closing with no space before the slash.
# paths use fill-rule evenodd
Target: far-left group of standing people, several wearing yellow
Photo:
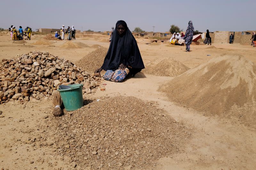
<path id="1" fill-rule="evenodd" d="M 27 26 L 25 31 L 23 32 L 22 26 L 19 28 L 19 34 L 15 26 L 11 25 L 11 28 L 9 28 L 9 32 L 11 35 L 12 40 L 23 40 L 23 39 L 31 39 L 31 33 L 32 29 Z"/>

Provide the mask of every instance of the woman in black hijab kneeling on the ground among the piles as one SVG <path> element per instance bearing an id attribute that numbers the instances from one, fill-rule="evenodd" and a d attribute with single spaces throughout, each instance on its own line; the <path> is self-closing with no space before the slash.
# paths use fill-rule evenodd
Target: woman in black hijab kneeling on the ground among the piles
<path id="1" fill-rule="evenodd" d="M 103 69 L 107 71 L 103 76 L 105 80 L 121 82 L 134 77 L 143 68 L 140 50 L 132 32 L 124 21 L 117 21 L 103 65 L 94 73 L 100 73 Z"/>

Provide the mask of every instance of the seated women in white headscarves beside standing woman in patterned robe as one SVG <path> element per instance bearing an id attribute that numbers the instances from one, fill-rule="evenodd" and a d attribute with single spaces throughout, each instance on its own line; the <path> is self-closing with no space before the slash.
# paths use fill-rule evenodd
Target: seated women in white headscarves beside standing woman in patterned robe
<path id="1" fill-rule="evenodd" d="M 193 39 L 193 35 L 194 35 L 194 26 L 192 21 L 188 22 L 188 28 L 186 30 L 185 35 L 183 33 L 173 33 L 171 39 L 170 39 L 170 44 L 175 45 L 176 43 L 178 44 L 186 44 L 186 52 L 190 52 L 190 44 L 192 43 L 192 39 Z"/>

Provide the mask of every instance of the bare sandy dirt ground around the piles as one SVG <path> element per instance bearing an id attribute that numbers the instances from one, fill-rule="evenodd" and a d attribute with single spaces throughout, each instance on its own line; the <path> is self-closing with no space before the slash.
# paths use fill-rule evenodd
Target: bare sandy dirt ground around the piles
<path id="1" fill-rule="evenodd" d="M 55 56 L 77 61 L 94 48 L 62 49 L 67 40 L 52 41 L 51 45 L 33 45 L 43 35 L 32 36 L 26 44 L 16 44 L 9 34 L 0 36 L 0 60 L 14 58 L 17 54 L 29 51 L 48 51 Z M 72 42 L 82 42 L 88 46 L 98 44 L 108 48 L 104 42 L 107 36 L 90 35 L 77 37 Z M 185 46 L 159 46 L 145 44 L 148 39 L 138 38 L 138 46 L 144 64 L 165 57 L 182 62 L 189 68 L 219 56 L 220 54 L 241 54 L 256 62 L 256 48 L 238 44 L 212 44 L 191 46 L 191 52 L 185 52 Z M 208 55 L 209 54 L 209 55 Z M 191 138 L 183 146 L 184 152 L 174 153 L 156 161 L 155 166 L 147 169 L 254 169 L 256 166 L 256 131 L 235 118 L 205 116 L 191 108 L 185 108 L 170 102 L 158 88 L 173 77 L 155 76 L 144 73 L 122 83 L 103 81 L 105 91 L 97 89 L 96 93 L 85 96 L 86 99 L 97 99 L 104 96 L 134 96 L 143 101 L 154 101 L 159 109 L 177 122 L 189 127 Z M 193 81 L 193 80 L 191 80 Z M 129 87 L 129 88 L 127 88 Z M 51 116 L 52 100 L 17 101 L 0 105 L 0 167 L 2 169 L 79 169 L 79 165 L 68 163 L 63 155 L 53 154 L 55 148 L 37 146 L 33 140 L 40 138 L 31 136 L 40 132 L 38 127 L 48 126 L 44 120 Z M 51 137 L 49 137 L 51 138 Z M 31 142 L 32 141 L 32 142 Z M 104 168 L 103 168 L 104 169 Z"/>

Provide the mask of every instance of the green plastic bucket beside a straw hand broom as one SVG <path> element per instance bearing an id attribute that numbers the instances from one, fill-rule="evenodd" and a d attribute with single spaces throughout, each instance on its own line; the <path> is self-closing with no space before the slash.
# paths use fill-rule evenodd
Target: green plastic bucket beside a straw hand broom
<path id="1" fill-rule="evenodd" d="M 57 89 L 67 111 L 73 111 L 83 106 L 82 84 L 71 84 L 69 89 Z M 68 87 L 66 86 L 66 87 Z"/>

